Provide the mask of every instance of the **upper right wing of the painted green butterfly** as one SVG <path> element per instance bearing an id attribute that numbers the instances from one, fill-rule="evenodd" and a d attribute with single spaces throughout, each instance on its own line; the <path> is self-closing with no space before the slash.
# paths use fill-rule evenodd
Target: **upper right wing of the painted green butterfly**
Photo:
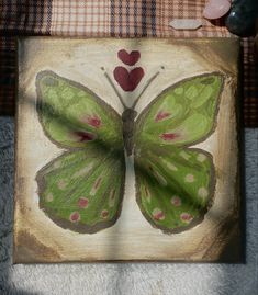
<path id="1" fill-rule="evenodd" d="M 198 144 L 211 134 L 223 78 L 220 73 L 183 80 L 155 99 L 139 115 L 136 146 Z"/>

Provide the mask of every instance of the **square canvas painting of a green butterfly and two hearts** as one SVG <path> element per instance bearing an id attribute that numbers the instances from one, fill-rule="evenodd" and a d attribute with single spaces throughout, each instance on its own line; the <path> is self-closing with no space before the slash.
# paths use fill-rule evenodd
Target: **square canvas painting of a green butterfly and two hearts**
<path id="1" fill-rule="evenodd" d="M 239 261 L 238 47 L 19 39 L 14 263 Z"/>

